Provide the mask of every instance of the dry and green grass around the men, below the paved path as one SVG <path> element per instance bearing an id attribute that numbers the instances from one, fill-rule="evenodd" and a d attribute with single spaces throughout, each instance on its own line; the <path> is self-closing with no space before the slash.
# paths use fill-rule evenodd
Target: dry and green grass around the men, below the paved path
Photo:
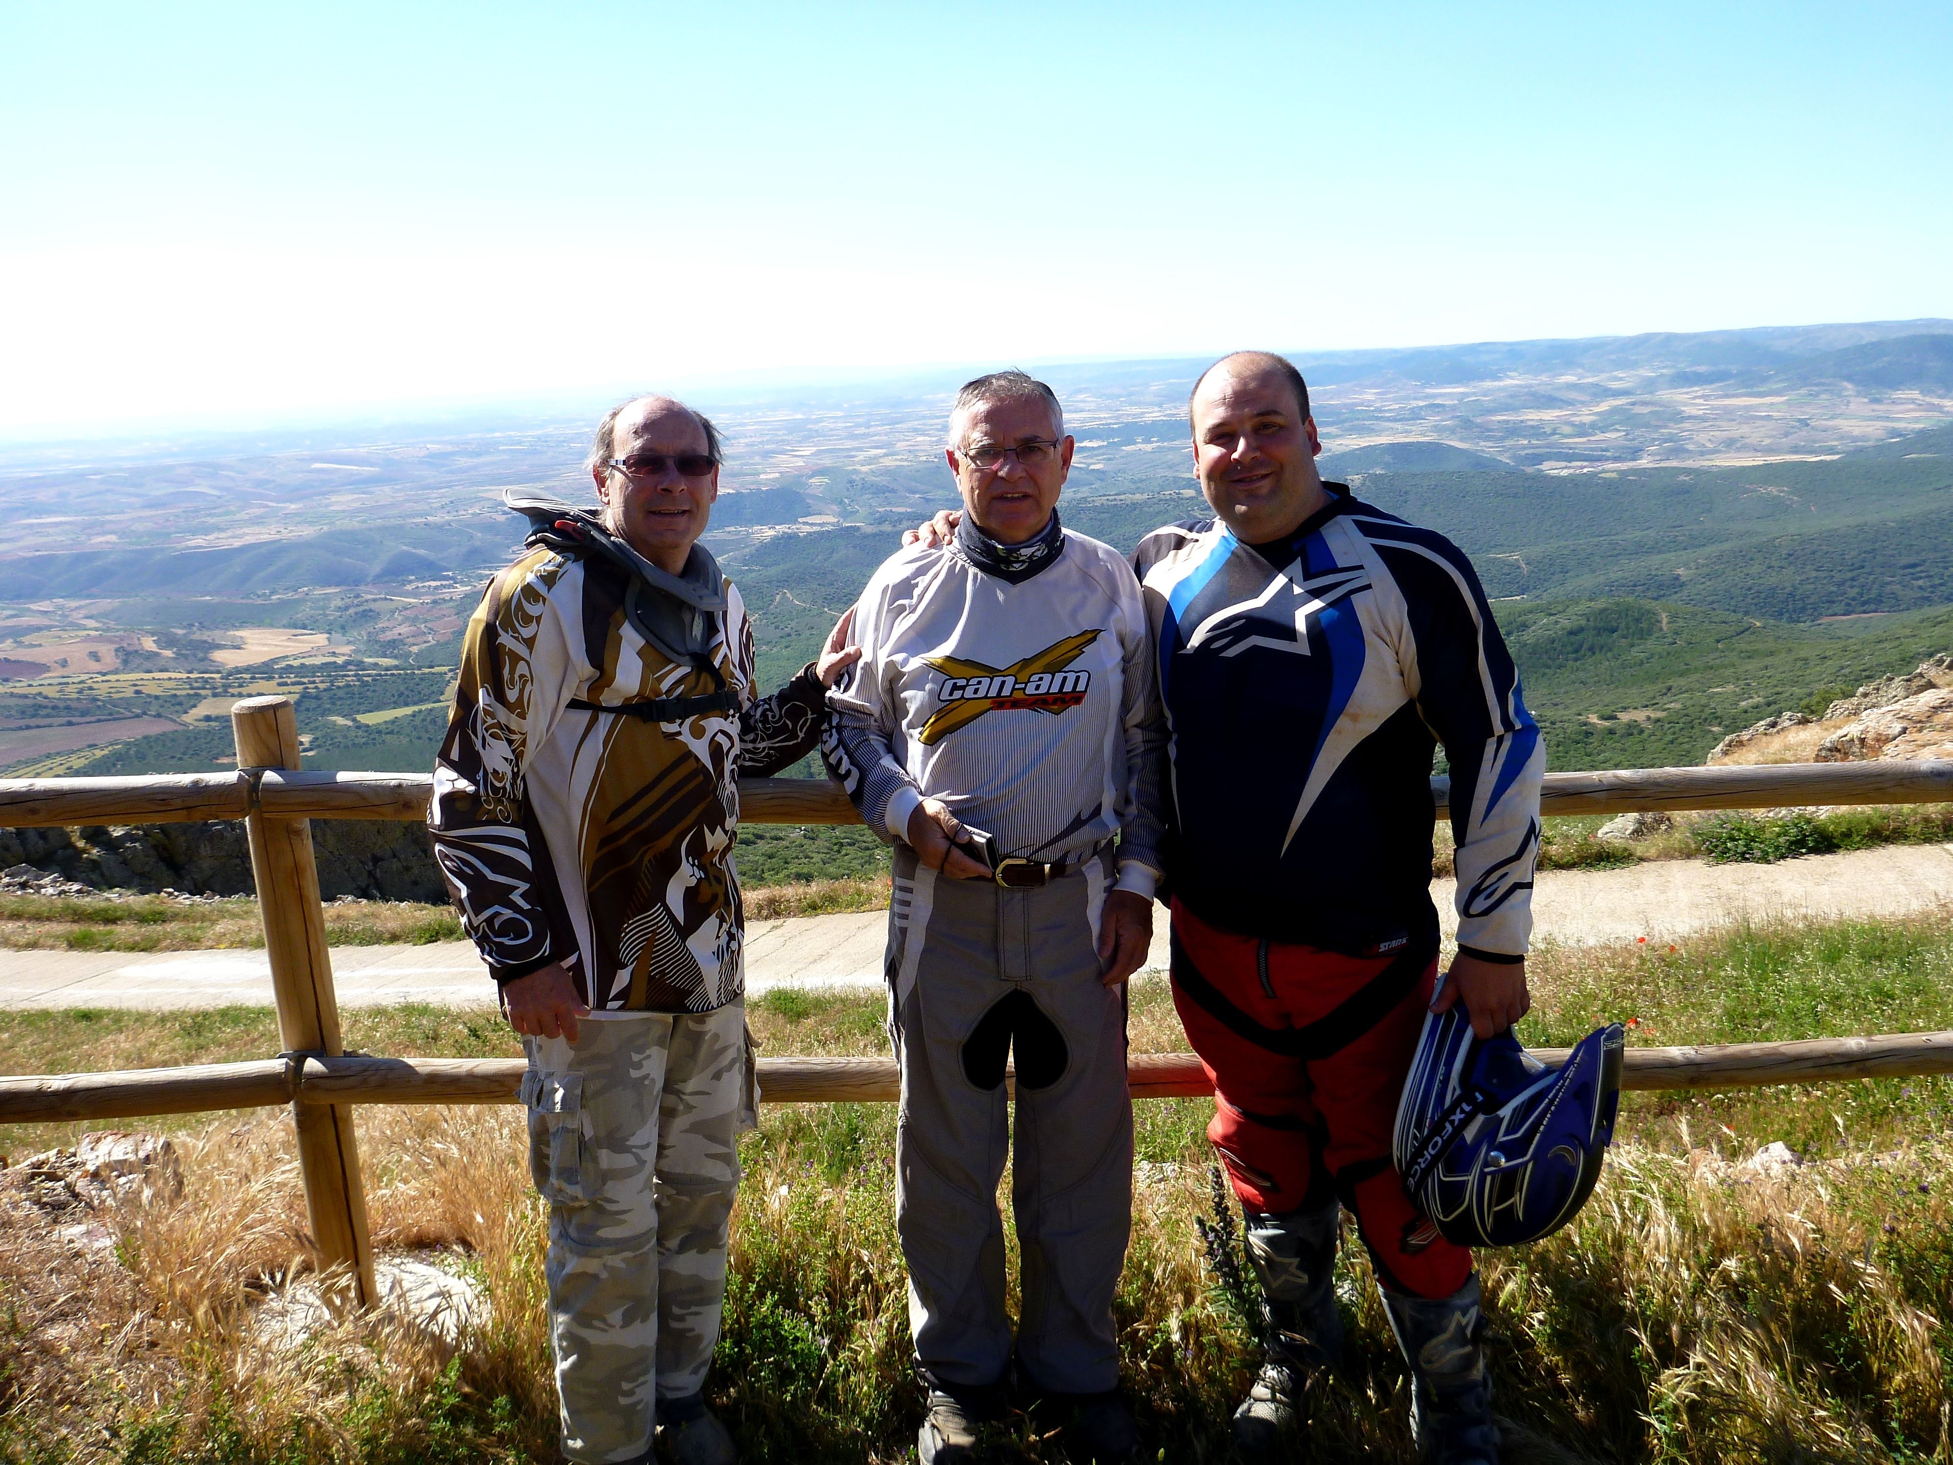
<path id="1" fill-rule="evenodd" d="M 1906 922 L 1730 926 L 1678 943 L 1547 947 L 1533 1043 L 1603 1018 L 1633 1043 L 1789 1039 L 1953 1026 L 1953 912 Z M 752 1008 L 764 1053 L 881 1053 L 873 998 L 777 990 Z M 1133 1045 L 1184 1047 L 1164 984 L 1133 992 Z M 514 1055 L 490 1012 L 346 1016 L 373 1053 Z M 256 1057 L 264 1010 L 0 1014 L 29 1070 Z M 1582 1217 L 1482 1258 L 1498 1408 L 1519 1461 L 1926 1461 L 1945 1438 L 1941 1318 L 1953 1307 L 1949 1080 L 1732 1094 L 1631 1094 Z M 1125 1385 L 1162 1459 L 1223 1459 L 1250 1330 L 1195 1227 L 1209 1219 L 1201 1100 L 1141 1102 L 1135 1238 L 1119 1295 Z M 893 1106 L 764 1108 L 742 1143 L 727 1330 L 709 1381 L 748 1459 L 898 1461 L 908 1371 L 893 1233 Z M 287 1276 L 303 1201 L 289 1121 L 156 1121 L 184 1195 L 96 1217 L 105 1244 L 0 1186 L 0 1449 L 16 1459 L 551 1459 L 543 1217 L 504 1108 L 359 1111 L 383 1252 L 467 1276 L 490 1301 L 459 1356 L 346 1324 L 305 1352 L 254 1328 Z M 0 1131 L 14 1156 L 78 1127 Z M 1779 1143 L 1789 1162 L 1754 1162 Z M 1781 1151 L 1773 1151 L 1781 1154 Z M 6 1172 L 0 1172 L 6 1174 Z M 1006 1178 L 1008 1190 L 1008 1178 Z M 86 1227 L 84 1227 L 86 1231 Z M 1344 1375 L 1314 1401 L 1312 1459 L 1406 1457 L 1404 1375 L 1346 1248 Z M 1059 1461 L 1016 1416 L 1000 1455 Z"/>

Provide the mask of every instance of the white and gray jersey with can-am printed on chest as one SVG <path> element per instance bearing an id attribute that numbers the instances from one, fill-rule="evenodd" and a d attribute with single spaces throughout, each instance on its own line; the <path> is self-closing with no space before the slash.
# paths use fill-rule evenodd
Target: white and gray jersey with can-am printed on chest
<path id="1" fill-rule="evenodd" d="M 853 641 L 822 750 L 869 828 L 900 840 L 932 797 L 1025 859 L 1119 834 L 1121 885 L 1150 893 L 1166 729 L 1146 607 L 1111 547 L 1066 529 L 1012 584 L 953 543 L 910 545 L 855 602 Z"/>

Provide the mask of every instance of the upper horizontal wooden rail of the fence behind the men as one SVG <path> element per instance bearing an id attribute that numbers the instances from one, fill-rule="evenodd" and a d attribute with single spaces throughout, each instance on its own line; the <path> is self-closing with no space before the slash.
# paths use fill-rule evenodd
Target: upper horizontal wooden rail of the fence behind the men
<path id="1" fill-rule="evenodd" d="M 47 824 L 182 824 L 199 818 L 396 818 L 428 815 L 426 774 L 152 774 L 145 777 L 0 779 L 0 828 Z M 748 824 L 855 824 L 840 785 L 812 777 L 740 781 Z M 1432 779 L 1437 815 L 1451 779 Z M 1775 809 L 1783 805 L 1953 803 L 1953 762 L 1748 764 L 1740 768 L 1623 768 L 1547 774 L 1547 815 L 1625 815 L 1646 809 Z"/>

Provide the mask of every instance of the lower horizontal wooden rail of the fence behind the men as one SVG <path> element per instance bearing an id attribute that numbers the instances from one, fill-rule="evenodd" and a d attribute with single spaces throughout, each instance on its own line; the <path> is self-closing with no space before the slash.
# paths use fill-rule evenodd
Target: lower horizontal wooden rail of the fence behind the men
<path id="1" fill-rule="evenodd" d="M 1562 1063 L 1568 1049 L 1533 1049 Z M 514 1104 L 521 1059 L 262 1059 L 197 1068 L 131 1068 L 0 1078 L 0 1123 L 135 1119 L 154 1113 L 250 1109 L 270 1104 Z M 1910 1078 L 1953 1072 L 1953 1031 L 1812 1037 L 1801 1043 L 1631 1047 L 1623 1088 L 1701 1090 Z M 1135 1053 L 1133 1098 L 1211 1094 L 1191 1053 Z M 894 1059 L 760 1059 L 768 1104 L 889 1104 L 900 1098 Z"/>

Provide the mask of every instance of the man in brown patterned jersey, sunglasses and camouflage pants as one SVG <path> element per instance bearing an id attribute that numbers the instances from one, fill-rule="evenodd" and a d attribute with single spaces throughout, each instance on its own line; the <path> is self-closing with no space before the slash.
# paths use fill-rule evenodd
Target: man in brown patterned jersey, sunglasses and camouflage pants
<path id="1" fill-rule="evenodd" d="M 785 690 L 754 688 L 738 590 L 697 543 L 719 434 L 668 397 L 613 408 L 600 510 L 510 492 L 527 551 L 469 621 L 428 824 L 529 1057 L 549 1201 L 562 1453 L 738 1457 L 705 1410 L 738 1133 L 758 1090 L 732 867 L 738 775 L 812 750 L 846 619 Z"/>

